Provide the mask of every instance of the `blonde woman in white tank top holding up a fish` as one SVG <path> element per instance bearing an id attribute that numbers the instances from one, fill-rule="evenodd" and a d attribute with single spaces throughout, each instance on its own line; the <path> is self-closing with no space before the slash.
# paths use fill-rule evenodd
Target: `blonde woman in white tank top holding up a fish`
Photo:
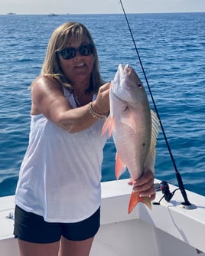
<path id="1" fill-rule="evenodd" d="M 87 256 L 99 229 L 102 149 L 109 83 L 80 23 L 50 37 L 41 76 L 31 85 L 31 133 L 15 196 L 21 256 Z M 151 172 L 134 189 L 155 198 Z"/>

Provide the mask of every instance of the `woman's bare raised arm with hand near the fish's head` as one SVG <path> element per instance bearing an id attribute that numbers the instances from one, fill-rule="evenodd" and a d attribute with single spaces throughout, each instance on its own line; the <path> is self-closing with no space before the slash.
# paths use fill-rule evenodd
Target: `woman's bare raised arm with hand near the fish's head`
<path id="1" fill-rule="evenodd" d="M 109 84 L 99 88 L 93 109 L 97 113 L 109 111 Z M 38 113 L 43 113 L 48 120 L 70 133 L 86 130 L 97 121 L 90 114 L 88 104 L 73 109 L 64 97 L 60 84 L 48 77 L 39 78 L 32 88 L 31 114 Z"/>

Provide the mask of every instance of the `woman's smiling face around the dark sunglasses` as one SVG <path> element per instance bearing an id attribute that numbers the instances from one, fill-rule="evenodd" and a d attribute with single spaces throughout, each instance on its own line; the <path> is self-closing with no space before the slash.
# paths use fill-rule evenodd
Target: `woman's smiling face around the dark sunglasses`
<path id="1" fill-rule="evenodd" d="M 79 48 L 80 45 L 87 42 L 87 40 L 79 42 L 73 38 L 67 47 Z M 93 70 L 93 54 L 83 56 L 79 51 L 76 51 L 76 56 L 73 58 L 64 60 L 61 54 L 59 54 L 59 59 L 63 74 L 70 80 L 71 84 L 89 83 L 90 74 Z"/>

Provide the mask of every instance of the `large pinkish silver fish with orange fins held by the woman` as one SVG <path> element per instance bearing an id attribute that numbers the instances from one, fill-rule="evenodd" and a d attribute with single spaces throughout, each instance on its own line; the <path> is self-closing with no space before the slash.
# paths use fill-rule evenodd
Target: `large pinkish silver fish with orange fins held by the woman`
<path id="1" fill-rule="evenodd" d="M 134 69 L 119 64 L 109 89 L 110 113 L 102 127 L 102 136 L 108 133 L 116 146 L 116 179 L 129 170 L 132 181 L 143 173 L 155 172 L 156 143 L 159 120 L 151 110 L 142 81 Z M 134 192 L 129 200 L 128 212 L 132 212 L 138 202 L 151 208 L 149 197 L 140 197 Z"/>

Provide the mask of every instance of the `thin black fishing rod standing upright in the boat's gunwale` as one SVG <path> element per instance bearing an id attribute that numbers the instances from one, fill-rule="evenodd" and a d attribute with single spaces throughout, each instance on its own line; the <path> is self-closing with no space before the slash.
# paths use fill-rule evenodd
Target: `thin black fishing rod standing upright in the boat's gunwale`
<path id="1" fill-rule="evenodd" d="M 148 78 L 147 78 L 147 75 L 146 75 L 146 73 L 145 73 L 145 69 L 144 69 L 144 66 L 143 66 L 143 64 L 142 64 L 141 57 L 140 57 L 140 55 L 139 55 L 139 53 L 138 53 L 138 48 L 137 48 L 137 45 L 136 45 L 136 43 L 135 43 L 135 38 L 134 38 L 134 36 L 133 36 L 133 34 L 132 34 L 132 30 L 131 30 L 131 27 L 130 27 L 130 25 L 129 25 L 129 20 L 128 20 L 127 15 L 126 15 L 126 12 L 125 12 L 124 5 L 122 4 L 122 0 L 119 0 L 119 3 L 120 3 L 120 5 L 122 6 L 122 11 L 123 11 L 123 14 L 124 14 L 124 16 L 125 16 L 125 20 L 126 20 L 127 25 L 128 25 L 128 27 L 129 27 L 129 32 L 130 32 L 130 34 L 131 34 L 132 41 L 133 41 L 134 46 L 135 46 L 135 51 L 136 51 L 136 53 L 137 53 L 137 55 L 138 55 L 138 61 L 139 61 L 140 65 L 141 65 L 141 67 L 142 67 L 142 72 L 143 72 L 143 74 L 144 74 L 145 81 L 146 81 L 146 84 L 147 84 L 147 86 L 148 86 L 148 90 L 149 90 L 149 93 L 150 93 L 150 96 L 151 96 L 151 100 L 152 100 L 152 102 L 153 102 L 153 105 L 154 105 L 154 107 L 155 107 L 155 111 L 156 111 L 157 116 L 158 116 L 158 120 L 159 120 L 159 123 L 160 123 L 160 126 L 161 126 L 161 131 L 162 131 L 162 133 L 163 133 L 165 143 L 166 143 L 166 145 L 167 145 L 167 147 L 168 147 L 168 152 L 169 152 L 169 154 L 170 154 L 170 156 L 171 156 L 171 161 L 172 161 L 172 163 L 173 163 L 173 165 L 174 165 L 175 175 L 176 175 L 176 178 L 177 178 L 177 182 L 178 182 L 178 185 L 179 185 L 179 189 L 181 190 L 181 194 L 182 194 L 182 196 L 183 196 L 183 198 L 184 198 L 184 202 L 182 202 L 181 204 L 184 205 L 184 208 L 193 208 L 193 207 L 190 207 L 191 204 L 190 204 L 189 200 L 187 199 L 187 193 L 186 193 L 186 191 L 185 191 L 185 189 L 184 189 L 184 184 L 183 184 L 182 179 L 181 179 L 181 174 L 180 174 L 180 172 L 178 172 L 178 170 L 177 170 L 177 165 L 176 165 L 176 162 L 175 162 L 175 160 L 174 160 L 174 156 L 173 156 L 173 154 L 172 154 L 172 152 L 171 152 L 171 147 L 170 147 L 170 145 L 169 145 L 169 143 L 168 143 L 168 138 L 167 138 L 166 133 L 165 133 L 165 131 L 164 131 L 164 126 L 163 126 L 163 124 L 161 123 L 161 118 L 160 118 L 159 113 L 158 113 L 158 107 L 157 107 L 157 105 L 156 105 L 156 103 L 155 103 L 155 99 L 154 99 L 153 94 L 152 94 L 152 92 L 151 92 L 151 87 L 149 86 Z M 173 194 L 173 195 L 174 195 L 174 194 Z M 170 199 L 171 199 L 171 196 L 170 196 Z"/>

